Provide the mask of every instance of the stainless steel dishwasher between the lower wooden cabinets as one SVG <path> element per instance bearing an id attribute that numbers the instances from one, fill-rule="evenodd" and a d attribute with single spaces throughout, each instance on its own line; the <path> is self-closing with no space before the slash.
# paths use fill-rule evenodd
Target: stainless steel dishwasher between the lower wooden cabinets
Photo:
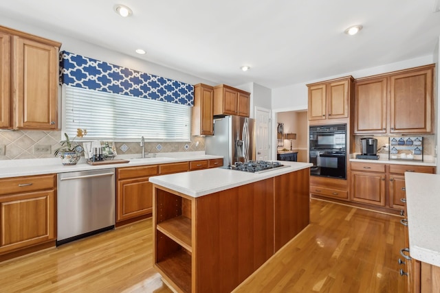
<path id="1" fill-rule="evenodd" d="M 115 169 L 58 174 L 56 245 L 115 227 Z"/>

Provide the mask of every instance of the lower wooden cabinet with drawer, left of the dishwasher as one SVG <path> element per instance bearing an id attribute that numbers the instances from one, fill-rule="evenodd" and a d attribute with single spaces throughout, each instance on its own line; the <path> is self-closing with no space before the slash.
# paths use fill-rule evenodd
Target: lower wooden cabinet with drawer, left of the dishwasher
<path id="1" fill-rule="evenodd" d="M 0 180 L 0 255 L 54 242 L 55 204 L 54 174 Z"/>

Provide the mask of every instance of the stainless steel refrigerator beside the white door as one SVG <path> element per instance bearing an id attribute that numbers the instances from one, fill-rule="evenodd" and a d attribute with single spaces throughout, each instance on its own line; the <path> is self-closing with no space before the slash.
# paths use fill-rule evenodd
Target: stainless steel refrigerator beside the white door
<path id="1" fill-rule="evenodd" d="M 255 160 L 254 119 L 225 116 L 214 120 L 214 135 L 205 137 L 206 154 L 223 156 L 223 166 Z"/>

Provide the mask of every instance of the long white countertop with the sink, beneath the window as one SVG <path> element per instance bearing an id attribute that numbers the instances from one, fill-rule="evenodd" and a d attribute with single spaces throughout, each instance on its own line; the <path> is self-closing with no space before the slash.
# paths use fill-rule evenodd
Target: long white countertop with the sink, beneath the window
<path id="1" fill-rule="evenodd" d="M 136 159 L 131 159 L 136 158 Z M 156 158 L 140 159 L 136 154 L 116 156 L 115 159 L 126 159 L 129 163 L 89 165 L 84 158 L 76 165 L 63 165 L 58 158 L 50 159 L 21 159 L 21 160 L 1 160 L 0 178 L 10 178 L 17 176 L 30 176 L 42 174 L 56 174 L 65 172 L 77 172 L 96 169 L 109 169 L 117 167 L 133 167 L 141 165 L 155 165 L 164 163 L 176 163 L 184 161 L 197 161 L 207 159 L 221 159 L 223 156 L 212 156 L 204 152 L 170 152 L 159 154 Z"/>

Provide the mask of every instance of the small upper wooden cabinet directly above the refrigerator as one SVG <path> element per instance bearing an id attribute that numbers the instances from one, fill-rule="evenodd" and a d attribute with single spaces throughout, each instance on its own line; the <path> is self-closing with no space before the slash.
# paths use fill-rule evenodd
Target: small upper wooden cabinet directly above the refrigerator
<path id="1" fill-rule="evenodd" d="M 220 84 L 214 86 L 214 115 L 249 117 L 250 93 Z"/>

